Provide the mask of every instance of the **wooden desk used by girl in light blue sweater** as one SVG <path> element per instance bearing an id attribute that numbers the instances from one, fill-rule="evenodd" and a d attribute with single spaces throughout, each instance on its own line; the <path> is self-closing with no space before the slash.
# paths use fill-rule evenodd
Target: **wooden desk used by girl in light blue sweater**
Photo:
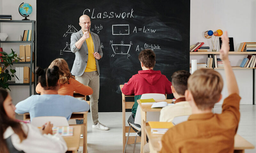
<path id="1" fill-rule="evenodd" d="M 72 113 L 70 119 L 83 119 L 84 124 L 83 124 L 83 144 L 80 143 L 80 146 L 83 146 L 83 153 L 87 152 L 87 112 L 76 112 Z M 23 120 L 30 120 L 29 113 L 24 113 L 23 114 Z M 73 126 L 73 125 L 72 125 Z"/>

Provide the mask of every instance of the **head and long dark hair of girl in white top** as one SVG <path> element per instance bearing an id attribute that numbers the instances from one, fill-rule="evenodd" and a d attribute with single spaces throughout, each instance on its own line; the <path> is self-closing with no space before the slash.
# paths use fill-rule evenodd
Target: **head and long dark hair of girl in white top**
<path id="1" fill-rule="evenodd" d="M 14 131 L 14 133 L 16 135 L 19 136 L 20 138 L 20 142 L 22 142 L 24 139 L 27 138 L 27 133 L 25 133 L 22 130 L 21 124 L 19 122 L 17 122 L 16 120 L 10 118 L 6 111 L 9 110 L 6 109 L 5 107 L 10 107 L 8 105 L 10 105 L 9 103 L 7 103 L 8 105 L 4 104 L 4 102 L 6 103 L 6 98 L 10 96 L 9 93 L 3 89 L 0 88 L 0 152 L 4 152 L 4 153 L 9 153 L 6 141 L 4 139 L 4 132 L 8 127 L 11 127 L 12 130 Z"/>

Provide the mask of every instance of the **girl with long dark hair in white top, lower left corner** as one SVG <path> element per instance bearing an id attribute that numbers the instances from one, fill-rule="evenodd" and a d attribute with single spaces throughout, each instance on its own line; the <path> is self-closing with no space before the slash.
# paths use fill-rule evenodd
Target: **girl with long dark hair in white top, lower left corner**
<path id="1" fill-rule="evenodd" d="M 60 135 L 52 135 L 52 124 L 40 130 L 15 119 L 15 106 L 10 94 L 0 88 L 0 152 L 1 153 L 64 153 L 67 144 Z"/>

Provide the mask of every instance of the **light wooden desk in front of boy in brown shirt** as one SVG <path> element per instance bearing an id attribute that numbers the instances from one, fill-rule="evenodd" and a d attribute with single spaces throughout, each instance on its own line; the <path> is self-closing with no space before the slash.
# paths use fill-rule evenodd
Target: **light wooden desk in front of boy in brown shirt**
<path id="1" fill-rule="evenodd" d="M 159 141 L 161 141 L 163 135 L 152 134 L 150 126 L 146 126 L 144 129 L 148 136 L 150 153 L 159 152 L 161 150 Z M 244 149 L 254 149 L 254 146 L 242 136 L 235 135 L 234 153 L 244 153 Z"/>

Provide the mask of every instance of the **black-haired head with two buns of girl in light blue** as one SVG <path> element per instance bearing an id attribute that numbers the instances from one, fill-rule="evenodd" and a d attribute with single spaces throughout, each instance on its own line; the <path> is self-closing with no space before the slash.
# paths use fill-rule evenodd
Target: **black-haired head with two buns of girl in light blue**
<path id="1" fill-rule="evenodd" d="M 44 90 L 56 90 L 60 78 L 58 66 L 46 69 L 36 67 L 36 75 L 38 75 L 38 82 L 40 82 Z"/>

